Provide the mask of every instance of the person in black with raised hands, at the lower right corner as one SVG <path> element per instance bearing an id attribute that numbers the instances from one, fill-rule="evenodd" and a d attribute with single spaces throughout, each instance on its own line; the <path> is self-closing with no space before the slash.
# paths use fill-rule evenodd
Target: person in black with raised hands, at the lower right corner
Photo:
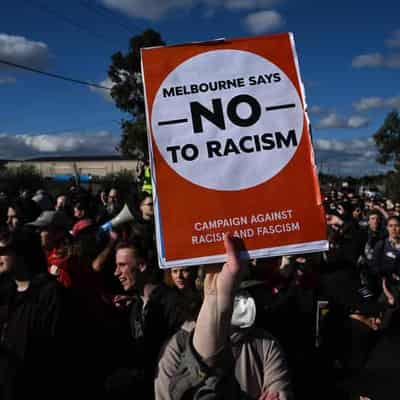
<path id="1" fill-rule="evenodd" d="M 326 361 L 325 367 L 331 363 L 325 371 L 332 379 L 330 384 L 336 381 L 336 389 L 342 395 L 368 393 L 370 382 L 360 377 L 368 372 L 365 368 L 371 355 L 393 324 L 398 299 L 386 279 L 381 280 L 380 285 L 382 295 L 377 297 L 361 285 L 353 271 L 338 271 L 323 279 L 322 291 L 329 300 L 330 311 L 322 325 L 321 354 Z M 380 372 L 384 374 L 384 371 Z M 338 397 L 337 393 L 335 396 L 348 398 Z"/>

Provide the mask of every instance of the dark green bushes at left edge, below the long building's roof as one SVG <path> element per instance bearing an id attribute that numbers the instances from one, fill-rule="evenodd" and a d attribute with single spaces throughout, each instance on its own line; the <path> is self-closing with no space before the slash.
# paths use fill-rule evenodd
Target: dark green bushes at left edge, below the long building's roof
<path id="1" fill-rule="evenodd" d="M 35 191 L 45 188 L 46 182 L 33 165 L 22 164 L 0 171 L 0 187 L 2 191 L 17 193 L 19 189 Z"/>

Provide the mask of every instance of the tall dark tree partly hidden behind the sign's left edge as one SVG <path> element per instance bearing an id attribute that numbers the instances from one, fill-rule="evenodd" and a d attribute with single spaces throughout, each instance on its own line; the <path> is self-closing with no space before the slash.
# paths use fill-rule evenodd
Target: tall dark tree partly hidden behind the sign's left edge
<path id="1" fill-rule="evenodd" d="M 122 119 L 122 137 L 117 150 L 127 157 L 147 158 L 148 144 L 145 120 L 144 90 L 141 76 L 140 49 L 164 45 L 161 35 L 148 29 L 129 41 L 129 51 L 113 54 L 108 76 L 114 83 L 111 96 L 131 119 Z"/>

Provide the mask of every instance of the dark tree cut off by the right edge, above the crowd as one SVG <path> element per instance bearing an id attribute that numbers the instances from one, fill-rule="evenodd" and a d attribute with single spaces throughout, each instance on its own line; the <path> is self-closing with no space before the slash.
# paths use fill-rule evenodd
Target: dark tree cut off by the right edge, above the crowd
<path id="1" fill-rule="evenodd" d="M 383 125 L 374 134 L 379 155 L 377 161 L 381 164 L 394 162 L 394 167 L 400 171 L 400 118 L 396 111 L 390 112 Z"/>

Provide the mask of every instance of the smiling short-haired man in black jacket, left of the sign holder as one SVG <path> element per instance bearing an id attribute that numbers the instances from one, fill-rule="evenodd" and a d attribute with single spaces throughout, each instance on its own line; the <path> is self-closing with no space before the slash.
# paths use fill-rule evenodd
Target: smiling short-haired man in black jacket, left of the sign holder
<path id="1" fill-rule="evenodd" d="M 178 293 L 161 282 L 161 271 L 151 267 L 146 256 L 140 242 L 120 242 L 116 247 L 115 276 L 125 295 L 116 296 L 114 302 L 128 322 L 129 338 L 121 368 L 106 382 L 112 399 L 154 397 L 158 355 L 184 322 L 178 313 Z"/>

